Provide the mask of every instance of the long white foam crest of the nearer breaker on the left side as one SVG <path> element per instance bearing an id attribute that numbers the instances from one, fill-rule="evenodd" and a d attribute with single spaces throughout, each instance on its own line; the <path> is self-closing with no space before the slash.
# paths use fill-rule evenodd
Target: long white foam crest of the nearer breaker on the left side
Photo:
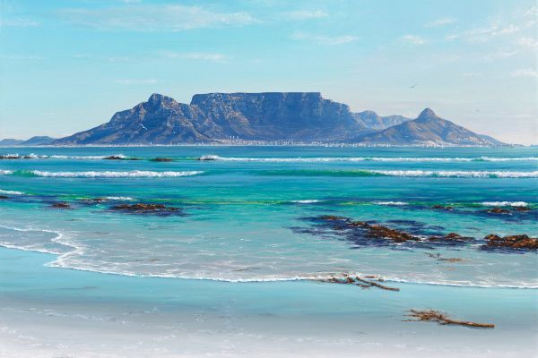
<path id="1" fill-rule="evenodd" d="M 61 178 L 161 178 L 200 175 L 202 171 L 186 172 L 152 172 L 148 170 L 133 170 L 130 172 L 44 172 L 41 170 L 32 170 L 30 173 L 38 176 L 61 177 Z"/>

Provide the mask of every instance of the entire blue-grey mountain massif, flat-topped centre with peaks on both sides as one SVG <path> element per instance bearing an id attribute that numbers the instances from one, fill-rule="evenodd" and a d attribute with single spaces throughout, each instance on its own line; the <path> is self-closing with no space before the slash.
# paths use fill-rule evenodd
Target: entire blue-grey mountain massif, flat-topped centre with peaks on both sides
<path id="1" fill-rule="evenodd" d="M 424 110 L 415 120 L 352 113 L 318 92 L 208 93 L 190 104 L 152 94 L 106 124 L 54 145 L 148 145 L 239 141 L 498 145 Z"/>

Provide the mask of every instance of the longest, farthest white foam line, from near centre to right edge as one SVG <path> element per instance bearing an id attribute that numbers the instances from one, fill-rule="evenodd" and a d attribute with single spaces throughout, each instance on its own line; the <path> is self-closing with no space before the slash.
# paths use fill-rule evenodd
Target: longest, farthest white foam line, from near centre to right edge
<path id="1" fill-rule="evenodd" d="M 473 161 L 534 161 L 538 157 L 525 158 L 492 158 L 492 157 L 473 157 L 473 158 L 408 158 L 408 157 L 317 157 L 317 158 L 247 158 L 247 157 L 221 157 L 217 155 L 206 155 L 199 158 L 200 160 L 222 160 L 236 162 L 360 162 L 360 161 L 380 161 L 380 162 L 473 162 Z"/>

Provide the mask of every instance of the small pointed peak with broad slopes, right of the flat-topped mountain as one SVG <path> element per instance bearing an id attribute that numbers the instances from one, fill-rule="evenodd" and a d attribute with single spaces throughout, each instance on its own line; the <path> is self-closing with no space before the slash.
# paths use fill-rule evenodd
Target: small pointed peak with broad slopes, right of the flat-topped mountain
<path id="1" fill-rule="evenodd" d="M 424 109 L 412 121 L 381 132 L 360 135 L 353 140 L 385 144 L 499 145 L 499 141 L 491 141 L 487 136 L 440 118 L 430 108 Z"/>

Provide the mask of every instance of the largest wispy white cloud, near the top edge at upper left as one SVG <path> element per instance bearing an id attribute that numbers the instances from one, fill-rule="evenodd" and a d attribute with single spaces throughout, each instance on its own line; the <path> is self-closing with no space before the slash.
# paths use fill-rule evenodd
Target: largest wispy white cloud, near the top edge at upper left
<path id="1" fill-rule="evenodd" d="M 126 5 L 100 9 L 64 9 L 61 18 L 76 25 L 105 30 L 181 31 L 256 23 L 249 13 L 220 13 L 200 6 Z"/>

